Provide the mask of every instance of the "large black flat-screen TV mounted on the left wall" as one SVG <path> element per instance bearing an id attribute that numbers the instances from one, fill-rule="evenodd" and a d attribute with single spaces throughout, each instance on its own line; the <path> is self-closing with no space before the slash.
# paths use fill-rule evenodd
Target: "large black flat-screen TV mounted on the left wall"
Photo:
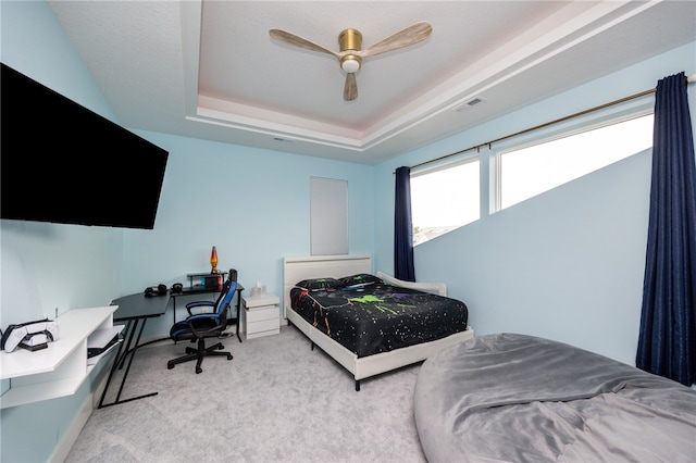
<path id="1" fill-rule="evenodd" d="M 152 229 L 169 152 L 0 64 L 0 218 Z"/>

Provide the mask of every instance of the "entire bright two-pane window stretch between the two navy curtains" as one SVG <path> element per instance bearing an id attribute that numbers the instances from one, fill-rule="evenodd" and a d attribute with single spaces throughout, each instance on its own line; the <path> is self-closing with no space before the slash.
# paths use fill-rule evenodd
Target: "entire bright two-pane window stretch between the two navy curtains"
<path id="1" fill-rule="evenodd" d="M 639 111 L 639 115 L 634 113 L 632 118 L 626 118 L 624 112 L 619 122 L 616 118 L 607 122 L 605 114 L 600 116 L 604 125 L 595 124 L 584 132 L 567 129 L 554 139 L 549 139 L 547 133 L 544 141 L 533 146 L 527 140 L 523 148 L 520 145 L 512 149 L 492 147 L 487 158 L 481 151 L 457 163 L 412 171 L 413 246 L 477 221 L 482 195 L 490 209 L 495 204 L 500 211 L 649 149 L 652 114 L 645 115 L 644 107 Z M 488 165 L 496 177 L 489 192 L 481 190 L 488 185 L 480 182 L 484 175 L 487 178 Z M 484 209 L 483 213 L 493 211 Z"/>

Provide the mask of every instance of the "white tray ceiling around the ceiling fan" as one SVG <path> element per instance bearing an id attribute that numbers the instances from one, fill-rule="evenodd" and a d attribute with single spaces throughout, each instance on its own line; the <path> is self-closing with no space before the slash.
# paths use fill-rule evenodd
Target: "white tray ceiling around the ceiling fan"
<path id="1" fill-rule="evenodd" d="M 51 1 L 120 123 L 376 164 L 696 40 L 691 1 Z M 365 59 L 343 100 L 338 51 L 415 23 L 428 39 Z M 675 70 L 686 71 L 686 70 Z M 669 72 L 667 70 L 666 72 Z M 453 108 L 472 99 L 474 107 Z"/>

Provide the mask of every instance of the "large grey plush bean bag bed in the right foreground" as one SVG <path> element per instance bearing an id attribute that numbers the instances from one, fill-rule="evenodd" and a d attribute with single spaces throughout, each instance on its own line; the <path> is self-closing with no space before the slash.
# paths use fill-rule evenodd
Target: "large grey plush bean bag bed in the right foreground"
<path id="1" fill-rule="evenodd" d="M 414 417 L 431 463 L 696 460 L 696 390 L 526 335 L 477 336 L 428 358 Z"/>

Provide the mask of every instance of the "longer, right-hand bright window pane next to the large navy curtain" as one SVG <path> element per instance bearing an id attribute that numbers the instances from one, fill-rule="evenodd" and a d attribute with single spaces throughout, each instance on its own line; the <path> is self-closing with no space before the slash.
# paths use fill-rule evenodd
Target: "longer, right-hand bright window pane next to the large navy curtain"
<path id="1" fill-rule="evenodd" d="M 652 146 L 652 114 L 498 154 L 498 210 Z"/>

